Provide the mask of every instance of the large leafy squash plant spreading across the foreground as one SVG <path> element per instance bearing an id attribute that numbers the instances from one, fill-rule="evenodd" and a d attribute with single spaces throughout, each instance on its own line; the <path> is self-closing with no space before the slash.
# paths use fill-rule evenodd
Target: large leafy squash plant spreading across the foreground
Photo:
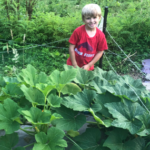
<path id="1" fill-rule="evenodd" d="M 150 149 L 150 93 L 141 80 L 67 65 L 47 76 L 28 65 L 17 77 L 1 77 L 0 86 L 1 150 L 14 148 L 19 129 L 35 136 L 33 150 Z M 80 134 L 85 111 L 95 121 Z M 26 122 L 32 130 L 21 128 Z"/>

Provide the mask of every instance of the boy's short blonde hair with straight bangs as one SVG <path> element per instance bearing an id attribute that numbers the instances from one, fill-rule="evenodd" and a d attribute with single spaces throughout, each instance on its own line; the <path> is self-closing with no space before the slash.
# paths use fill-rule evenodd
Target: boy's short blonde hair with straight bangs
<path id="1" fill-rule="evenodd" d="M 87 4 L 82 8 L 82 20 L 85 16 L 99 16 L 101 17 L 101 8 L 97 4 Z"/>

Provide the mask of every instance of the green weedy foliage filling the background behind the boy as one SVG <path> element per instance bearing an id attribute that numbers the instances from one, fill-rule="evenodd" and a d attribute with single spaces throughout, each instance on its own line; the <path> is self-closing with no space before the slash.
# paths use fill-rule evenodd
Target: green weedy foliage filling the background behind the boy
<path id="1" fill-rule="evenodd" d="M 88 0 L 86 2 L 83 0 L 38 1 L 36 5 L 34 5 L 31 20 L 28 20 L 29 16 L 26 15 L 25 0 L 20 3 L 16 3 L 16 0 L 7 0 L 7 4 L 4 3 L 3 0 L 0 4 L 2 6 L 0 15 L 0 39 L 12 39 L 10 34 L 10 30 L 12 30 L 13 40 L 8 42 L 9 47 L 12 48 L 16 43 L 22 46 L 24 34 L 26 34 L 25 42 L 38 44 L 45 44 L 67 38 L 64 41 L 52 43 L 53 46 L 60 47 L 59 50 L 54 48 L 43 48 L 41 51 L 41 49 L 37 48 L 33 52 L 35 56 L 29 56 L 31 54 L 31 52 L 29 52 L 29 55 L 25 57 L 26 64 L 30 63 L 46 73 L 50 73 L 56 68 L 62 70 L 60 64 L 65 63 L 67 59 L 66 54 L 68 54 L 68 50 L 64 48 L 68 48 L 69 43 L 67 40 L 73 30 L 83 24 L 81 9 L 87 3 L 99 4 L 102 8 L 102 15 L 104 15 L 104 6 L 107 5 L 109 7 L 107 19 L 108 31 L 127 55 L 134 54 L 130 58 L 141 68 L 141 60 L 148 58 L 150 50 L 150 22 L 148 15 L 150 13 L 150 2 L 148 0 L 110 0 L 107 2 L 104 0 Z M 43 5 L 45 7 L 42 7 Z M 126 56 L 122 55 L 107 33 L 106 37 L 109 49 L 117 54 L 116 56 L 111 52 L 108 53 L 109 61 L 112 63 L 115 70 L 122 74 L 129 72 L 134 72 L 136 74 L 137 70 L 135 66 L 127 61 Z M 12 41 L 14 41 L 13 44 Z M 25 47 L 27 47 L 27 45 Z M 2 50 L 6 51 L 7 46 L 3 45 Z M 23 56 L 20 56 L 21 61 L 23 60 L 22 58 Z M 50 61 L 48 61 L 48 59 L 52 62 L 49 63 Z M 5 64 L 10 66 L 8 60 L 5 61 Z M 105 70 L 110 69 L 106 59 L 104 59 L 103 64 Z M 22 63 L 20 64 L 18 62 L 18 65 L 20 67 Z M 1 68 L 6 74 L 12 75 L 11 69 Z"/>

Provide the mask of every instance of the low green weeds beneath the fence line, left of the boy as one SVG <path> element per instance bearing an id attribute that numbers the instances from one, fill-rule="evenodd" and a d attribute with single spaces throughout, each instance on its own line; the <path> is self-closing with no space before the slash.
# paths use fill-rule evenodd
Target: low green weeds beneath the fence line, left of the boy
<path id="1" fill-rule="evenodd" d="M 66 49 L 63 50 L 63 48 L 60 53 L 60 48 L 55 46 L 32 44 L 21 46 L 13 42 L 10 40 L 9 44 L 0 43 L 0 50 L 3 52 L 0 60 L 0 74 L 14 76 L 27 64 L 33 65 L 38 72 L 50 74 L 55 69 L 62 71 L 62 64 L 65 64 L 69 57 L 69 54 L 65 52 Z"/>

